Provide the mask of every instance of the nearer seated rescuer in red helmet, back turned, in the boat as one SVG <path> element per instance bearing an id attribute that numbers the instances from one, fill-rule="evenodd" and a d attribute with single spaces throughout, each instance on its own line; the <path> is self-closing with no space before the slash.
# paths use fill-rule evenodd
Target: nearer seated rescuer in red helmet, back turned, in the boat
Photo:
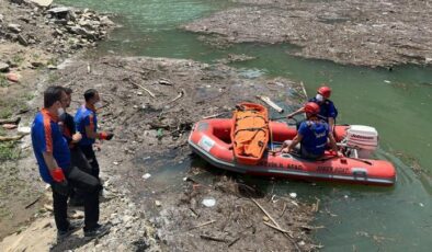
<path id="1" fill-rule="evenodd" d="M 297 144 L 300 144 L 300 156 L 306 159 L 320 159 L 326 150 L 327 140 L 329 139 L 330 147 L 338 153 L 338 147 L 333 134 L 329 130 L 329 125 L 318 118 L 319 105 L 315 102 L 308 102 L 303 107 L 306 112 L 306 121 L 302 122 L 297 135 L 293 140 L 286 140 L 282 145 L 281 152 L 293 152 Z"/>

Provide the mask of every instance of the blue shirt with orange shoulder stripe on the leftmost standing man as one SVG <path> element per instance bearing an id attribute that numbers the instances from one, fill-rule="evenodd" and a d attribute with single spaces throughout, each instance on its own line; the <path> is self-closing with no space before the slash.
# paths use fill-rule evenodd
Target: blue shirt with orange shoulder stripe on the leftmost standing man
<path id="1" fill-rule="evenodd" d="M 70 152 L 68 142 L 61 135 L 57 119 L 45 108 L 36 114 L 32 124 L 32 145 L 34 156 L 39 167 L 42 179 L 53 183 L 43 152 L 50 152 L 58 167 L 66 173 L 70 168 Z"/>

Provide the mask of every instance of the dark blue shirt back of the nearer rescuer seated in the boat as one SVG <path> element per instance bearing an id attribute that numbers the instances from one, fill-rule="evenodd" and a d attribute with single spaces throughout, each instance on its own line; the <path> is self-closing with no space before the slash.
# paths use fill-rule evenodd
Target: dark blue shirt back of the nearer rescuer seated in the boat
<path id="1" fill-rule="evenodd" d="M 329 125 L 325 122 L 305 121 L 298 128 L 302 138 L 302 148 L 311 154 L 323 154 L 327 136 L 329 135 Z"/>

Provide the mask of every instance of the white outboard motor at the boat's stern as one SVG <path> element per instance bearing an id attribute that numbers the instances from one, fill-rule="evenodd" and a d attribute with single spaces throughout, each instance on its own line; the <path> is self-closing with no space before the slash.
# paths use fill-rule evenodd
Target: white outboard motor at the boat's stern
<path id="1" fill-rule="evenodd" d="M 370 159 L 378 147 L 378 133 L 374 127 L 351 125 L 346 130 L 345 144 L 350 151 L 349 157 Z"/>

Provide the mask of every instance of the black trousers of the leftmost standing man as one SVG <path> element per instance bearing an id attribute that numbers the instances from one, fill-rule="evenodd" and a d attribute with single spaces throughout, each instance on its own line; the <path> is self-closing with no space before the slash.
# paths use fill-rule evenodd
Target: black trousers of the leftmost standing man
<path id="1" fill-rule="evenodd" d="M 91 230 L 98 226 L 99 221 L 99 191 L 102 188 L 99 180 L 80 169 L 72 167 L 65 174 L 68 185 L 84 192 L 84 231 Z M 53 208 L 54 219 L 57 230 L 67 230 L 69 221 L 67 219 L 68 195 L 62 195 L 53 188 Z"/>

